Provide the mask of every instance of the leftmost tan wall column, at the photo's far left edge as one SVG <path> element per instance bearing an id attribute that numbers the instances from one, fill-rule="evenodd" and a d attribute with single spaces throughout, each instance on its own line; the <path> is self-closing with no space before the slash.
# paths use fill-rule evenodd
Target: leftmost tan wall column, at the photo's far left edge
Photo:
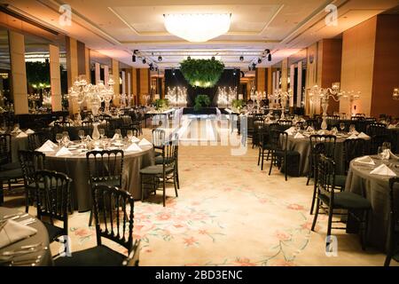
<path id="1" fill-rule="evenodd" d="M 27 105 L 27 69 L 25 66 L 24 36 L 9 31 L 10 57 L 12 68 L 12 96 L 15 114 L 28 114 Z"/>

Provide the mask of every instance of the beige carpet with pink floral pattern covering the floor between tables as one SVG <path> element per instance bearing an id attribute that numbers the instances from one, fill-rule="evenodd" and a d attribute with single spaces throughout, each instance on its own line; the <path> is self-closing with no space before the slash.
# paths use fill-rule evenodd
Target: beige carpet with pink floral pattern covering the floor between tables
<path id="1" fill-rule="evenodd" d="M 160 196 L 135 203 L 140 265 L 383 264 L 384 254 L 363 251 L 357 235 L 341 230 L 333 232 L 338 257 L 325 256 L 325 216 L 319 217 L 316 233 L 309 230 L 313 186 L 305 185 L 305 177 L 285 181 L 278 170 L 269 176 L 268 162 L 261 171 L 257 149 L 248 147 L 246 155 L 232 156 L 229 146 L 182 146 L 179 161 L 178 198 L 171 185 L 166 208 Z M 16 202 L 22 205 L 21 199 L 9 199 L 8 206 Z M 88 220 L 88 212 L 69 218 L 73 251 L 96 245 Z M 58 247 L 51 245 L 54 253 Z"/>

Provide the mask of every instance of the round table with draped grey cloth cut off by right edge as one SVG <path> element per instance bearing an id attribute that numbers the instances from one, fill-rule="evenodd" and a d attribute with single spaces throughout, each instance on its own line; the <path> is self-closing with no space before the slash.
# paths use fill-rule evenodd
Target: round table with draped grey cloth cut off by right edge
<path id="1" fill-rule="evenodd" d="M 375 166 L 359 163 L 356 162 L 356 160 L 350 162 L 345 191 L 362 195 L 364 193 L 365 197 L 372 202 L 372 212 L 369 214 L 366 244 L 386 251 L 390 211 L 390 177 L 370 174 L 373 169 L 382 163 L 377 156 L 372 155 L 371 157 L 375 162 Z M 385 163 L 392 164 L 389 168 L 395 172 L 396 176 L 399 176 L 398 160 L 390 159 Z M 396 202 L 395 206 L 399 208 L 399 201 Z M 354 233 L 354 228 L 356 228 L 354 220 L 348 218 L 347 232 Z"/>

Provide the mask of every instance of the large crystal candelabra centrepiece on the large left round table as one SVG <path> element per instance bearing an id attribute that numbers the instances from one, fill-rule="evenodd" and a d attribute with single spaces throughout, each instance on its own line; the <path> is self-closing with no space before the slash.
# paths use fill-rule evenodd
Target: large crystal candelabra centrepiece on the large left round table
<path id="1" fill-rule="evenodd" d="M 98 115 L 98 109 L 102 102 L 105 102 L 104 112 L 109 114 L 109 106 L 111 99 L 113 99 L 113 79 L 110 78 L 108 84 L 105 85 L 103 81 L 98 81 L 97 84 L 93 85 L 87 83 L 84 78 L 78 79 L 74 82 L 74 85 L 68 92 L 73 100 L 75 100 L 79 107 L 82 107 L 82 103 L 86 101 L 88 106 L 90 105 L 91 113 L 94 116 Z"/>

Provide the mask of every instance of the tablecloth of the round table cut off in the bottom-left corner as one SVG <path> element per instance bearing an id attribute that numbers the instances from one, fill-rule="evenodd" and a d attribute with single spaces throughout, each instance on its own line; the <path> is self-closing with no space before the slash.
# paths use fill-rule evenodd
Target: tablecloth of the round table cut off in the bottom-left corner
<path id="1" fill-rule="evenodd" d="M 0 207 L 0 218 L 3 218 L 4 216 L 7 216 L 7 215 L 16 214 L 16 213 L 20 213 L 20 211 L 17 209 Z M 34 217 L 34 216 L 29 215 L 28 217 Z M 28 217 L 24 217 L 23 219 L 26 219 Z M 19 219 L 16 219 L 14 221 L 18 221 L 18 220 Z M 40 262 L 36 265 L 52 266 L 53 262 L 52 262 L 51 251 L 50 251 L 49 233 L 47 233 L 46 227 L 38 219 L 36 219 L 35 223 L 32 223 L 29 226 L 35 228 L 37 230 L 37 233 L 35 233 L 34 235 L 30 236 L 27 239 L 24 239 L 21 241 L 16 241 L 16 242 L 12 243 L 11 245 L 8 245 L 4 248 L 0 248 L 0 255 L 4 251 L 20 249 L 21 246 L 34 245 L 36 243 L 43 242 L 43 247 L 47 247 L 48 249 L 40 249 L 37 252 L 32 252 L 30 254 L 27 254 L 26 256 L 20 256 L 18 258 L 18 260 L 27 259 L 27 258 L 30 258 L 31 256 L 39 256 L 40 255 L 42 257 L 40 258 Z"/>

